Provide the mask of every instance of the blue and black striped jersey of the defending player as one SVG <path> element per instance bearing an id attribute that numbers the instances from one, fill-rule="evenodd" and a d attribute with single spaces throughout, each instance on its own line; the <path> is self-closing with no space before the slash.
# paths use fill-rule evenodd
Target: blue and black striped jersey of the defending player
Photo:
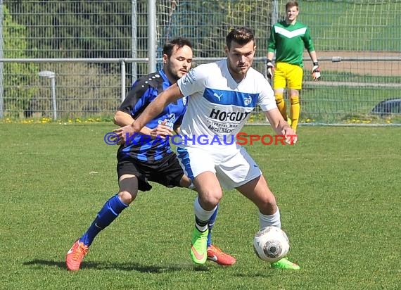
<path id="1" fill-rule="evenodd" d="M 170 87 L 170 85 L 171 83 L 163 70 L 141 77 L 132 84 L 131 91 L 129 91 L 118 110 L 132 115 L 132 118 L 135 119 L 158 94 Z M 165 125 L 173 128 L 174 125 L 181 123 L 185 111 L 186 97 L 179 99 L 177 103 L 167 105 L 163 113 L 148 122 L 146 127 L 153 129 L 166 120 Z M 160 160 L 171 152 L 170 143 L 167 139 L 151 139 L 151 137 L 144 134 L 134 134 L 129 138 L 128 145 L 123 144 L 120 146 L 117 157 L 119 159 L 131 157 L 141 161 L 152 162 L 153 160 Z"/>

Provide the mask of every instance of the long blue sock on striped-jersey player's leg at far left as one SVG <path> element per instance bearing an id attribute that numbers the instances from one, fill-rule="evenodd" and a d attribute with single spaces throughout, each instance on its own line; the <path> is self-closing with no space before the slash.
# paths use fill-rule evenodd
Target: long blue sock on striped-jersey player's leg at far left
<path id="1" fill-rule="evenodd" d="M 84 242 L 87 246 L 91 246 L 96 235 L 101 232 L 102 229 L 110 225 L 125 208 L 127 208 L 127 204 L 123 203 L 117 194 L 112 196 L 106 201 L 87 232 L 82 235 L 79 241 Z"/>

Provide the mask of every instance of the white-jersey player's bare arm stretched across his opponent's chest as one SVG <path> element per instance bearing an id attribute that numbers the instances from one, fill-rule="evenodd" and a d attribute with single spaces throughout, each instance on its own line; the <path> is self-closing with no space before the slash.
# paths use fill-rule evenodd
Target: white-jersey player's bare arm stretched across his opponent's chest
<path id="1" fill-rule="evenodd" d="M 165 106 L 167 106 L 169 103 L 177 101 L 183 96 L 184 95 L 179 90 L 177 84 L 172 84 L 172 86 L 165 89 L 165 91 L 160 93 L 155 100 L 146 107 L 145 111 L 142 112 L 141 115 L 139 115 L 139 117 L 132 122 L 132 124 L 113 130 L 113 132 L 117 133 L 120 139 L 119 144 L 124 144 L 127 137 L 134 133 L 140 132 L 141 129 L 148 124 L 148 122 L 163 112 Z"/>

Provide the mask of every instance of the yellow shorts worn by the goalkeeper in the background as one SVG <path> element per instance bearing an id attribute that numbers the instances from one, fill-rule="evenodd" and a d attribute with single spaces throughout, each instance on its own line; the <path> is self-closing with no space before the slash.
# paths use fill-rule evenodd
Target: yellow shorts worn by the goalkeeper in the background
<path id="1" fill-rule="evenodd" d="M 303 68 L 289 63 L 276 63 L 273 89 L 302 89 Z"/>

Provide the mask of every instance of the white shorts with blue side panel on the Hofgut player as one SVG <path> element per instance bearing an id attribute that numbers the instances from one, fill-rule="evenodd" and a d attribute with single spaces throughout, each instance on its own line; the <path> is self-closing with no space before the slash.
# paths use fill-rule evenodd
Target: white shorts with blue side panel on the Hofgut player
<path id="1" fill-rule="evenodd" d="M 208 150 L 209 149 L 209 150 Z M 236 150 L 227 147 L 210 150 L 198 147 L 177 147 L 177 156 L 186 176 L 193 180 L 202 172 L 215 173 L 224 189 L 234 189 L 262 175 L 259 167 L 246 149 L 236 146 Z"/>

